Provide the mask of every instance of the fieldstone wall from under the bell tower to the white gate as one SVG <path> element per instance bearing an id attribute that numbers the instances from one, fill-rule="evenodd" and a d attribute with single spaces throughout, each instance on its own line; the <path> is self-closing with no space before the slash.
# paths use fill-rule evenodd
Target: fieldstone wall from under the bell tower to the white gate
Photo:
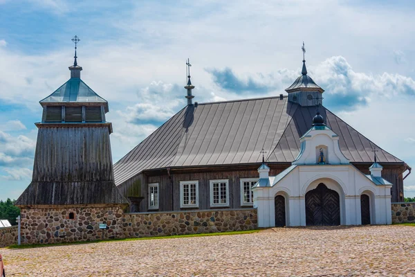
<path id="1" fill-rule="evenodd" d="M 73 213 L 73 219 L 70 218 Z M 100 229 L 107 224 L 107 229 Z M 122 213 L 120 207 L 22 208 L 21 243 L 141 238 L 257 228 L 257 210 Z"/>

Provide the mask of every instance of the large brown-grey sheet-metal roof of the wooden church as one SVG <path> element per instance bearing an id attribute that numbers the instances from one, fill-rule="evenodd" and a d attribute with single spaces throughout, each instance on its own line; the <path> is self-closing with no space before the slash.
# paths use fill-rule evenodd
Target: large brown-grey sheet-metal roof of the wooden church
<path id="1" fill-rule="evenodd" d="M 291 163 L 315 109 L 279 96 L 187 105 L 114 165 L 116 184 L 157 168 L 261 164 L 262 148 L 267 163 Z M 374 147 L 378 162 L 403 163 L 328 109 L 320 107 L 320 113 L 352 163 L 373 163 Z"/>

